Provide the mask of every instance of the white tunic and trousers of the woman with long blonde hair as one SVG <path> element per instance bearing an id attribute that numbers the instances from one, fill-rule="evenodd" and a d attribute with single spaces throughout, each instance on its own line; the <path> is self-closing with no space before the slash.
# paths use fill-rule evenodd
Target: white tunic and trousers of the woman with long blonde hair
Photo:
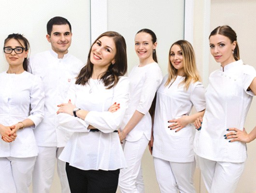
<path id="1" fill-rule="evenodd" d="M 195 126 L 186 125 L 178 132 L 170 130 L 169 120 L 189 115 L 192 107 L 199 112 L 205 109 L 205 89 L 200 82 L 190 83 L 186 90 L 183 80 L 177 76 L 165 86 L 168 75 L 163 79 L 156 95 L 154 119 L 153 156 L 156 177 L 161 193 L 195 193 L 193 174 L 195 158 L 193 141 Z M 177 189 L 176 189 L 177 187 Z"/>

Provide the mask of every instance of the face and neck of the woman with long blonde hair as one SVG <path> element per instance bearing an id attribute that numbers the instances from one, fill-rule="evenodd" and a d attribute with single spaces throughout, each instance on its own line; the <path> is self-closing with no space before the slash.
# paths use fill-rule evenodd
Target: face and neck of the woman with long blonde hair
<path id="1" fill-rule="evenodd" d="M 171 65 L 177 69 L 177 74 L 184 76 L 183 53 L 180 46 L 174 44 L 170 50 Z"/>

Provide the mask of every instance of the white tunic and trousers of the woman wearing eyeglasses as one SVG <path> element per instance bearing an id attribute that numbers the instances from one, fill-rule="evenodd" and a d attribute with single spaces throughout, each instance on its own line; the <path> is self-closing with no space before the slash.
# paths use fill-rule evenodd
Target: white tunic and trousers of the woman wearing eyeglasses
<path id="1" fill-rule="evenodd" d="M 27 71 L 0 73 L 0 124 L 11 126 L 24 119 L 35 125 L 17 131 L 16 139 L 0 140 L 0 193 L 28 193 L 38 148 L 33 129 L 43 120 L 42 81 Z"/>

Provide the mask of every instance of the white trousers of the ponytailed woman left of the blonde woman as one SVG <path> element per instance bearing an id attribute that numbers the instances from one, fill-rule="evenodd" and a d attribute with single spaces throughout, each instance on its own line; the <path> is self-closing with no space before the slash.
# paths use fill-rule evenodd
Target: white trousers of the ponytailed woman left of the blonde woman
<path id="1" fill-rule="evenodd" d="M 141 163 L 148 142 L 149 140 L 144 135 L 138 141 L 125 142 L 124 154 L 128 167 L 120 169 L 121 193 L 144 193 Z"/>

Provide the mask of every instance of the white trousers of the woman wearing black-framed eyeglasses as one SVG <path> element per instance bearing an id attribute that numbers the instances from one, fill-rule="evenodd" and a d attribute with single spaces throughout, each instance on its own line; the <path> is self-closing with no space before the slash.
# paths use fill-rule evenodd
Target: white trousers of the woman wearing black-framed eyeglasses
<path id="1" fill-rule="evenodd" d="M 0 193 L 29 193 L 36 157 L 0 157 Z"/>

